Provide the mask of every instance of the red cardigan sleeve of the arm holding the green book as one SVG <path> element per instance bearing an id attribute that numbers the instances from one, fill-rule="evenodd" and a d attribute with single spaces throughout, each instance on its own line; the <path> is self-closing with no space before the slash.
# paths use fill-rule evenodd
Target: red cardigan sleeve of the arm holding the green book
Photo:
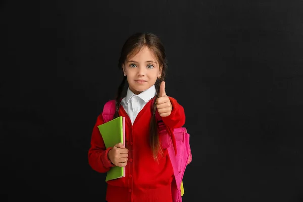
<path id="1" fill-rule="evenodd" d="M 105 148 L 102 136 L 98 129 L 98 126 L 103 123 L 102 114 L 100 114 L 92 130 L 90 149 L 88 151 L 89 165 L 93 170 L 100 173 L 106 173 L 111 167 L 115 166 L 108 158 L 109 150 L 112 148 Z"/>

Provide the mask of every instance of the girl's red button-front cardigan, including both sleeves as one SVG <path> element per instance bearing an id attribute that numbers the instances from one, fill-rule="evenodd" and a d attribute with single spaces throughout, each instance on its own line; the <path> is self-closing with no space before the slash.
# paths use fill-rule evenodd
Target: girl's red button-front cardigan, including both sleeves
<path id="1" fill-rule="evenodd" d="M 173 110 L 168 117 L 162 117 L 164 124 L 172 130 L 185 124 L 185 113 L 177 101 L 169 97 Z M 149 146 L 149 123 L 151 120 L 150 100 L 139 112 L 133 125 L 124 108 L 120 107 L 119 115 L 125 117 L 126 148 L 129 150 L 125 168 L 126 176 L 108 181 L 106 200 L 108 202 L 171 202 L 171 182 L 173 168 L 167 153 L 160 158 L 159 164 L 154 161 Z M 98 125 L 103 124 L 102 115 L 97 118 L 92 131 L 91 147 L 88 151 L 88 162 L 91 168 L 106 173 L 113 165 L 108 158 Z"/>

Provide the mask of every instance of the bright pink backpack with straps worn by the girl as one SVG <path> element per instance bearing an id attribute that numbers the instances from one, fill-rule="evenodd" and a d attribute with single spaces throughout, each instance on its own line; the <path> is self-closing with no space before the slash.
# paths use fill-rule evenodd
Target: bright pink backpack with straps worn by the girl
<path id="1" fill-rule="evenodd" d="M 105 123 L 113 119 L 115 111 L 116 111 L 115 100 L 110 100 L 104 105 L 102 117 Z M 176 139 L 176 147 L 177 147 L 177 155 L 176 155 L 170 134 L 167 132 L 166 127 L 163 124 L 161 117 L 159 116 L 158 113 L 156 113 L 156 118 L 158 121 L 162 147 L 167 148 L 174 170 L 175 181 L 173 181 L 174 183 L 172 183 L 173 202 L 182 202 L 181 183 L 186 166 L 192 160 L 192 155 L 189 145 L 189 134 L 187 133 L 187 130 L 184 127 L 174 129 L 174 136 Z"/>

